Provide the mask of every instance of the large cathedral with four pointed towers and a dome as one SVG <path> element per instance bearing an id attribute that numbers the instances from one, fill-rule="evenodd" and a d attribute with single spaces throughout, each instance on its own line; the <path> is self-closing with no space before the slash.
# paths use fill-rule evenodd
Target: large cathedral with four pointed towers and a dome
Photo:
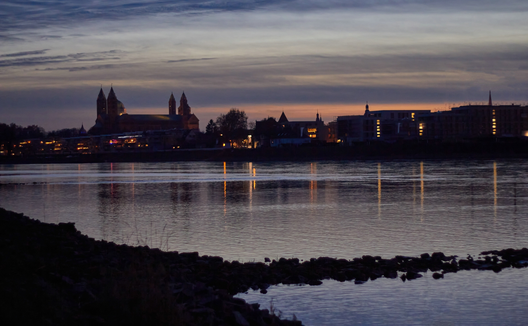
<path id="1" fill-rule="evenodd" d="M 97 97 L 96 124 L 90 132 L 101 134 L 166 129 L 200 130 L 199 121 L 191 113 L 185 93 L 180 98 L 177 113 L 176 99 L 171 93 L 171 98 L 168 100 L 168 114 L 128 114 L 124 104 L 117 99 L 114 88 L 110 88 L 108 98 L 106 98 L 101 87 Z"/>

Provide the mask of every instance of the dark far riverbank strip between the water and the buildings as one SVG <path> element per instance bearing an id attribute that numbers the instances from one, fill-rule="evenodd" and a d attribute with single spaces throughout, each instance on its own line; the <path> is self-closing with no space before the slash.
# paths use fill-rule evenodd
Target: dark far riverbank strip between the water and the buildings
<path id="1" fill-rule="evenodd" d="M 306 161 L 371 159 L 495 159 L 528 157 L 528 141 L 516 138 L 482 141 L 359 142 L 326 146 L 257 149 L 193 149 L 156 152 L 113 152 L 85 155 L 0 156 L 0 164 L 160 161 Z"/>

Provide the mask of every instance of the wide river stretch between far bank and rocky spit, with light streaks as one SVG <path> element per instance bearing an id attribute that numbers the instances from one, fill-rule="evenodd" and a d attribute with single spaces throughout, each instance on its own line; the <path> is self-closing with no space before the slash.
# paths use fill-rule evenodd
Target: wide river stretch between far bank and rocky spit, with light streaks
<path id="1" fill-rule="evenodd" d="M 95 238 L 242 261 L 465 255 L 526 245 L 527 170 L 522 160 L 4 165 L 0 200 Z"/>

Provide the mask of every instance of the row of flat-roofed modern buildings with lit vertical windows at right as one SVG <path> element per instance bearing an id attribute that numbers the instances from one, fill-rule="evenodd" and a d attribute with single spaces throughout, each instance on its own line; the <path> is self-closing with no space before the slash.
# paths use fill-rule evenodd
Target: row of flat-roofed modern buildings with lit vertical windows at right
<path id="1" fill-rule="evenodd" d="M 360 116 L 336 119 L 337 139 L 342 142 L 398 139 L 475 139 L 528 136 L 528 106 L 467 104 L 446 111 L 379 110 L 368 104 Z"/>

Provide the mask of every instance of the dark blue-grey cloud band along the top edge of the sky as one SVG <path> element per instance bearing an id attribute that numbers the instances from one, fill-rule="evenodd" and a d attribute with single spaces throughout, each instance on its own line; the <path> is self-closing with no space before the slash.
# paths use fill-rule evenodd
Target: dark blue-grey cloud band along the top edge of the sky
<path id="1" fill-rule="evenodd" d="M 196 15 L 258 10 L 306 12 L 322 9 L 525 12 L 528 11 L 528 3 L 522 0 L 7 0 L 0 5 L 0 9 L 0 31 L 9 31 L 157 14 Z M 58 35 L 48 35 L 55 36 Z"/>

